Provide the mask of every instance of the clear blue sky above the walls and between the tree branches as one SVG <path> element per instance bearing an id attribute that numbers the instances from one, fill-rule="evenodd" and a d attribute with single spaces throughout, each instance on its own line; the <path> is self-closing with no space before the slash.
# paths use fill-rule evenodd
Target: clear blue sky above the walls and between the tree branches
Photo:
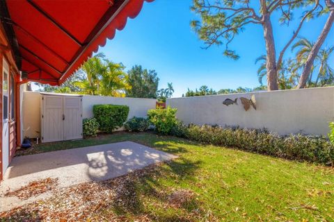
<path id="1" fill-rule="evenodd" d="M 191 12 L 191 0 L 156 0 L 145 3 L 141 13 L 135 19 L 129 19 L 127 26 L 116 33 L 113 40 L 99 49 L 114 62 L 122 62 L 127 69 L 133 65 L 142 65 L 155 69 L 160 78 L 159 88 L 173 83 L 175 94 L 182 96 L 187 88 L 195 89 L 207 85 L 213 89 L 256 87 L 255 59 L 265 53 L 262 27 L 250 25 L 238 35 L 232 44 L 239 54 L 239 60 L 223 56 L 223 46 L 212 46 L 205 50 L 203 42 L 190 28 L 190 22 L 196 18 Z M 298 21 L 298 12 L 296 22 Z M 274 16 L 272 19 L 277 49 L 292 35 L 294 24 L 281 26 Z M 299 36 L 317 40 L 326 16 L 303 26 Z M 333 30 L 324 46 L 334 42 Z M 286 57 L 293 56 L 291 50 Z M 265 83 L 265 81 L 264 81 Z"/>

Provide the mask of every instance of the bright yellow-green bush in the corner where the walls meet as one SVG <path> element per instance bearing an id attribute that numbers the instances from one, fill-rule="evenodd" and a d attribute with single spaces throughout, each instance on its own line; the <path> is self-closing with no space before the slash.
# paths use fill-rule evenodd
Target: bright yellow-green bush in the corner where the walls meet
<path id="1" fill-rule="evenodd" d="M 176 111 L 177 109 L 170 107 L 148 110 L 148 119 L 155 126 L 157 133 L 167 135 L 177 125 Z"/>

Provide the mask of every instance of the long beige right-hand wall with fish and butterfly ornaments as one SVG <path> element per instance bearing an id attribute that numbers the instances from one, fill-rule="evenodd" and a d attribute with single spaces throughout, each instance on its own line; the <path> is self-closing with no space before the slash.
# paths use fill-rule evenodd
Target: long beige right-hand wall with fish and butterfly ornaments
<path id="1" fill-rule="evenodd" d="M 246 112 L 239 99 L 238 105 L 223 105 L 227 98 L 253 94 L 257 110 Z M 184 97 L 166 103 L 177 108 L 177 118 L 185 123 L 267 128 L 280 135 L 327 135 L 328 122 L 334 121 L 334 87 Z"/>

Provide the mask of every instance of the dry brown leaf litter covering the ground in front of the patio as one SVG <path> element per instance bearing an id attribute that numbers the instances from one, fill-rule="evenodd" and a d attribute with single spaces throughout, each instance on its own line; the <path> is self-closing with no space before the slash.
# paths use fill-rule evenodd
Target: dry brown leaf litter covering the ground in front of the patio
<path id="1" fill-rule="evenodd" d="M 134 180 L 154 171 L 154 166 L 134 171 L 125 176 L 102 182 L 86 182 L 72 187 L 55 189 L 47 200 L 1 212 L 5 221 L 126 221 L 113 214 L 111 207 L 125 211 L 136 209 Z M 30 186 L 34 187 L 33 185 Z M 19 191 L 20 190 L 20 191 Z M 26 187 L 8 195 L 24 197 L 31 191 Z M 136 221 L 151 221 L 147 215 L 138 215 Z"/>

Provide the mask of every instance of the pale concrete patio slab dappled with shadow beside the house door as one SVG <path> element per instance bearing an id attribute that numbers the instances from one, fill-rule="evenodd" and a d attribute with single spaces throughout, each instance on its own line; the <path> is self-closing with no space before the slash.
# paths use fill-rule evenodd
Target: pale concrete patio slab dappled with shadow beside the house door
<path id="1" fill-rule="evenodd" d="M 4 196 L 9 187 L 13 191 L 29 182 L 45 178 L 58 178 L 58 187 L 107 180 L 174 157 L 134 142 L 15 157 L 0 184 L 0 212 L 51 195 L 48 192 L 28 200 L 19 200 L 17 197 Z"/>

